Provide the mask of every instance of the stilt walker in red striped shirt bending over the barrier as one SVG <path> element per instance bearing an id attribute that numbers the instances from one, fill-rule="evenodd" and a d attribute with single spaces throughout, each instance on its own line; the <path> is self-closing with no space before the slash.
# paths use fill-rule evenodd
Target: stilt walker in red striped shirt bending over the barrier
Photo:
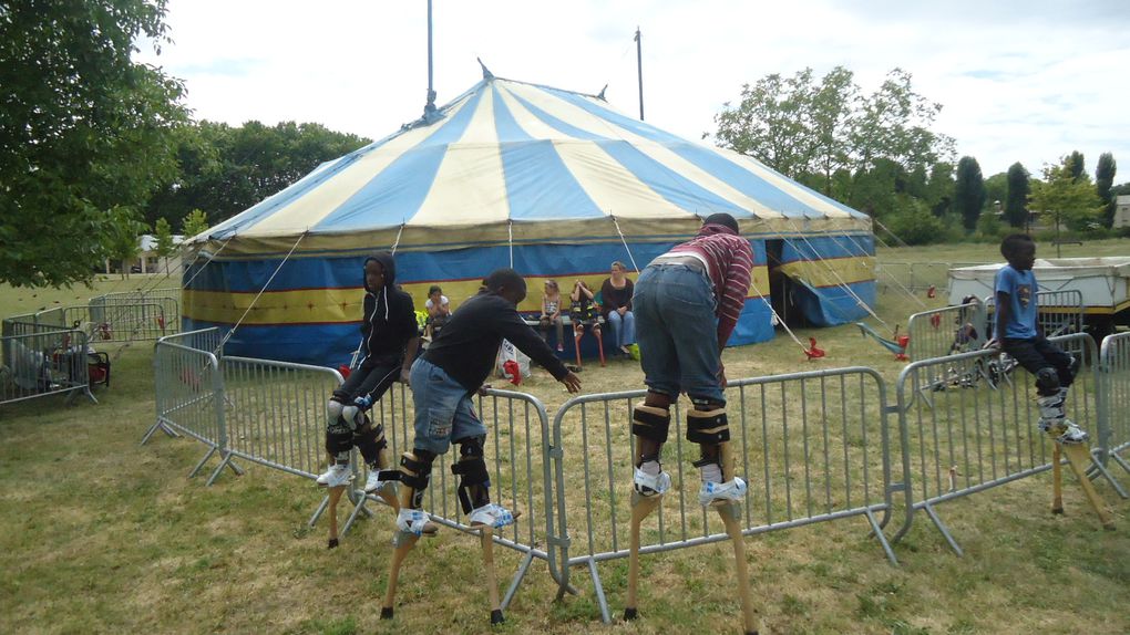
<path id="1" fill-rule="evenodd" d="M 745 572 L 738 505 L 746 482 L 736 474 L 725 414 L 722 349 L 749 291 L 753 250 L 730 214 L 706 218 L 698 235 L 657 257 L 640 274 L 632 297 L 647 396 L 632 413 L 635 442 L 632 545 L 625 619 L 637 617 L 640 524 L 654 510 L 671 477 L 660 457 L 671 423 L 671 404 L 690 398 L 687 440 L 699 447 L 698 501 L 715 508 L 733 541 L 746 632 L 756 633 Z"/>

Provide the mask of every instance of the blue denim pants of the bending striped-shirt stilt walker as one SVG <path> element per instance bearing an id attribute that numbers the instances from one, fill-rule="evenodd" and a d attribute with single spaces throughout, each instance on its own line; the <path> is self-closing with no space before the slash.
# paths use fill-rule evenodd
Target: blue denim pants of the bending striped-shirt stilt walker
<path id="1" fill-rule="evenodd" d="M 718 317 L 710 279 L 681 264 L 647 265 L 632 307 L 640 324 L 644 383 L 653 393 L 724 404 L 718 382 Z"/>

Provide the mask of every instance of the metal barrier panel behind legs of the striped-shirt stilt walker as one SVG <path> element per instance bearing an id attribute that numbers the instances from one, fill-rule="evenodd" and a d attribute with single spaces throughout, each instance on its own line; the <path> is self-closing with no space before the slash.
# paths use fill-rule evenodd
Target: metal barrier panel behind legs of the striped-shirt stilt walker
<path id="1" fill-rule="evenodd" d="M 554 417 L 558 596 L 568 588 L 570 567 L 588 567 L 605 621 L 610 615 L 597 565 L 628 556 L 631 418 L 644 395 L 584 395 Z M 738 474 L 749 483 L 744 535 L 858 515 L 897 562 L 881 527 L 902 487 L 890 478 L 885 388 L 876 371 L 845 368 L 731 381 L 727 400 Z M 673 485 L 644 521 L 641 554 L 729 539 L 715 514 L 698 503 L 698 471 L 690 466 L 698 450 L 684 438 L 685 414 L 679 405 L 671 408 L 662 462 Z"/>

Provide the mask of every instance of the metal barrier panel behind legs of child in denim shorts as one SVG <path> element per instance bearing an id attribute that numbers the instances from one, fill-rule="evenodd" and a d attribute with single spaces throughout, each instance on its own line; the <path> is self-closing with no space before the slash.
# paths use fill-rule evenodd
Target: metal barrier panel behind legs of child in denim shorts
<path id="1" fill-rule="evenodd" d="M 412 449 L 415 412 L 411 395 L 403 383 L 393 385 L 384 398 L 373 406 L 371 416 L 384 425 L 393 467 L 399 465 L 403 452 Z M 549 417 L 536 397 L 508 390 L 486 390 L 477 397 L 476 412 L 487 426 L 485 458 L 490 471 L 490 500 L 522 512 L 516 523 L 496 530 L 494 535 L 495 544 L 523 555 L 502 599 L 502 608 L 505 609 L 532 561 L 549 562 L 550 546 L 557 541 L 553 535 L 550 471 L 546 459 L 550 451 Z M 424 509 L 434 522 L 471 532 L 459 504 L 459 477 L 451 474 L 451 464 L 458 459 L 459 449 L 455 446 L 447 453 L 436 457 L 432 483 L 424 495 Z M 368 499 L 376 500 L 376 496 Z M 383 522 L 388 522 L 390 530 L 393 529 L 391 518 Z"/>

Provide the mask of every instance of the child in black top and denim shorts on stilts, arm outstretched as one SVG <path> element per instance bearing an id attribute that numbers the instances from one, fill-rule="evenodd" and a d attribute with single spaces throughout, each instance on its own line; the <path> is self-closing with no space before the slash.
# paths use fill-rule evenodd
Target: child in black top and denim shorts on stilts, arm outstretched
<path id="1" fill-rule="evenodd" d="M 400 458 L 403 487 L 397 517 L 397 548 L 381 609 L 382 619 L 393 616 L 400 565 L 427 522 L 421 504 L 431 482 L 432 462 L 455 443 L 459 460 L 451 466 L 451 471 L 459 476 L 459 502 L 463 513 L 469 515 L 468 523 L 481 532 L 485 577 L 490 585 L 490 621 L 503 621 L 493 576 L 490 536 L 494 529 L 513 523 L 520 512 L 490 502 L 490 474 L 484 457 L 487 429 L 475 412 L 473 395 L 494 369 L 504 338 L 545 367 L 570 393 L 581 389 L 576 374 L 565 368 L 519 315 L 518 305 L 524 299 L 522 276 L 512 268 L 496 270 L 487 277 L 486 289 L 452 314 L 432 345 L 412 364 L 416 438 L 412 450 Z"/>

